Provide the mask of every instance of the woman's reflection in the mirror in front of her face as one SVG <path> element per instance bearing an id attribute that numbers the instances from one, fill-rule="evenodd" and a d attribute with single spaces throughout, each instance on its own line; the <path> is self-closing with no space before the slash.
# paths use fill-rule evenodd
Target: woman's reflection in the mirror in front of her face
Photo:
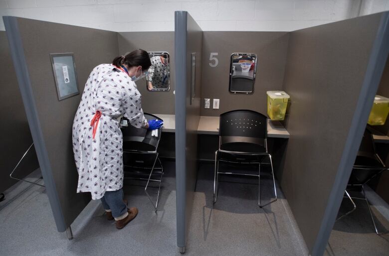
<path id="1" fill-rule="evenodd" d="M 163 56 L 154 56 L 150 60 L 151 66 L 149 68 L 147 89 L 151 91 L 153 89 L 168 88 L 168 59 Z"/>

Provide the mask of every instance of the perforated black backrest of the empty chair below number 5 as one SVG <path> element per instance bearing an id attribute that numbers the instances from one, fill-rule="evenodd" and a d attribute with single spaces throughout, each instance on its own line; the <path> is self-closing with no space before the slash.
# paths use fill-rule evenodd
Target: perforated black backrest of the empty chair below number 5
<path id="1" fill-rule="evenodd" d="M 220 115 L 220 136 L 267 137 L 267 117 L 252 110 L 233 110 Z"/>

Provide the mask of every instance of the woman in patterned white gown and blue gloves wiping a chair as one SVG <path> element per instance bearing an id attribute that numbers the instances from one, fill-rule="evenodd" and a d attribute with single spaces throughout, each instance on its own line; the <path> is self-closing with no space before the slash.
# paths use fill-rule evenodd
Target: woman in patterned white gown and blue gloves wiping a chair
<path id="1" fill-rule="evenodd" d="M 137 128 L 156 129 L 161 121 L 147 121 L 135 81 L 151 66 L 144 50 L 116 57 L 112 64 L 95 67 L 85 84 L 73 121 L 73 152 L 78 192 L 101 199 L 109 220 L 122 229 L 138 214 L 123 200 L 123 135 L 119 120 L 126 117 Z"/>

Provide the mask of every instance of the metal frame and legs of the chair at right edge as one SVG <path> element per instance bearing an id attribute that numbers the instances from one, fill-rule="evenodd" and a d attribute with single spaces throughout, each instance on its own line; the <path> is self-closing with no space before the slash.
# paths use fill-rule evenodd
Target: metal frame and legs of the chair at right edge
<path id="1" fill-rule="evenodd" d="M 383 167 L 385 167 L 385 164 L 384 162 L 382 161 L 381 157 L 376 153 L 375 156 L 377 157 L 378 161 L 382 164 Z M 389 170 L 389 168 L 379 168 L 379 167 L 369 167 L 369 166 L 362 166 L 362 165 L 359 165 L 359 166 L 354 166 L 353 169 L 360 169 L 360 170 L 380 170 L 380 172 L 376 173 L 375 175 L 373 175 L 372 177 L 370 177 L 370 179 L 368 179 L 364 184 L 353 184 L 353 185 L 347 185 L 349 187 L 361 187 L 361 190 L 362 190 L 362 193 L 363 193 L 363 197 L 352 197 L 350 196 L 350 194 L 347 192 L 347 188 L 345 189 L 345 194 L 346 196 L 344 196 L 343 198 L 348 198 L 350 199 L 351 203 L 353 204 L 353 209 L 345 214 L 343 214 L 342 216 L 340 216 L 336 221 L 339 221 L 340 219 L 342 219 L 343 217 L 349 215 L 350 213 L 354 212 L 356 209 L 357 209 L 357 205 L 355 204 L 355 202 L 353 201 L 353 199 L 360 199 L 360 200 L 365 200 L 367 206 L 368 206 L 368 209 L 369 209 L 369 214 L 370 214 L 370 218 L 372 219 L 372 222 L 373 222 L 373 225 L 374 225 L 374 229 L 376 231 L 376 234 L 377 235 L 381 235 L 383 234 L 382 232 L 379 232 L 378 229 L 377 229 L 377 225 L 376 225 L 376 222 L 374 221 L 374 218 L 373 218 L 373 214 L 372 214 L 372 210 L 370 209 L 370 204 L 369 204 L 369 200 L 368 200 L 368 197 L 366 196 L 366 193 L 365 193 L 365 189 L 364 189 L 364 186 L 370 181 L 372 180 L 374 177 L 376 177 L 377 175 L 381 174 L 382 172 L 386 171 L 386 170 Z"/>

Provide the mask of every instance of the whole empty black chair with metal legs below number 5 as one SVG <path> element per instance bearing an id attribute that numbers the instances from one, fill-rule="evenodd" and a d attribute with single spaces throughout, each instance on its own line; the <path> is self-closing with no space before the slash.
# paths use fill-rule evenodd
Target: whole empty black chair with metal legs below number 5
<path id="1" fill-rule="evenodd" d="M 270 159 L 275 199 L 261 205 L 260 170 L 265 156 Z M 258 174 L 219 172 L 219 161 L 226 163 L 258 164 Z M 258 177 L 258 206 L 264 207 L 277 201 L 273 162 L 267 151 L 267 118 L 251 110 L 234 110 L 220 115 L 219 149 L 215 152 L 215 173 L 213 179 L 213 203 L 217 200 L 219 174 L 245 175 Z"/>

